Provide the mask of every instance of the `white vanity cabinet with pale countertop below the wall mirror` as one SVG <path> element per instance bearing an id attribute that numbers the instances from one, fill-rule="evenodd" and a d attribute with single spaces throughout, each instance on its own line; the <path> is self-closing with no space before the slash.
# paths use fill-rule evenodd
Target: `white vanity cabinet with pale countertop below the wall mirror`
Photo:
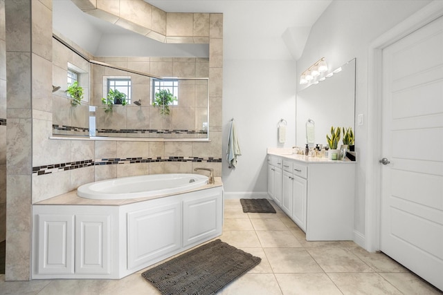
<path id="1" fill-rule="evenodd" d="M 306 240 L 352 240 L 355 162 L 268 149 L 268 193 Z"/>

